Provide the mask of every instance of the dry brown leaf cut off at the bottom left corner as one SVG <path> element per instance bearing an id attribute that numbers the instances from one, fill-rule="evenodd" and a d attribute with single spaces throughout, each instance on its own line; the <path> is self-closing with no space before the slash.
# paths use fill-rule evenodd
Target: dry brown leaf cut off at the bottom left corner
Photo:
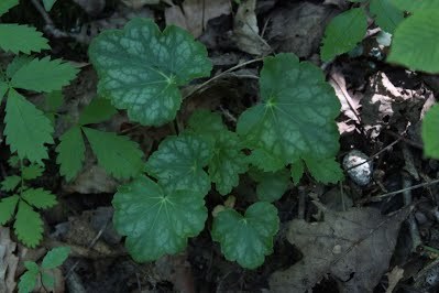
<path id="1" fill-rule="evenodd" d="M 17 243 L 10 238 L 10 230 L 0 227 L 0 292 L 10 293 L 15 289 L 15 271 L 19 258 L 14 254 Z"/>

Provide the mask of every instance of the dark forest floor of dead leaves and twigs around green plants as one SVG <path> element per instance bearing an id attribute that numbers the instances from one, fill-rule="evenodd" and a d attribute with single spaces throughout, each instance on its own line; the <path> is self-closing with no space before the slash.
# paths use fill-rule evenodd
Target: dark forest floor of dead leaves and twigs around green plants
<path id="1" fill-rule="evenodd" d="M 281 229 L 273 254 L 259 269 L 244 270 L 223 258 L 211 240 L 211 223 L 189 240 L 185 253 L 133 262 L 111 221 L 111 199 L 120 182 L 88 155 L 81 174 L 66 183 L 54 159 L 36 183 L 57 194 L 59 202 L 44 213 L 45 240 L 28 249 L 12 232 L 7 239 L 9 228 L 0 227 L 0 247 L 17 242 L 19 257 L 17 270 L 8 272 L 9 279 L 3 274 L 0 282 L 18 282 L 23 261 L 69 246 L 72 253 L 58 272 L 56 292 L 438 292 L 439 189 L 429 183 L 438 177 L 439 164 L 422 156 L 420 121 L 435 102 L 439 77 L 386 64 L 387 48 L 373 26 L 354 52 L 322 64 L 319 46 L 326 24 L 349 1 L 248 0 L 240 7 L 233 0 L 72 0 L 58 1 L 51 13 L 37 10 L 35 2 L 21 3 L 3 21 L 35 25 L 51 40 L 52 55 L 81 66 L 77 79 L 64 90 L 65 113 L 77 117 L 96 96 L 97 76 L 87 56 L 90 40 L 103 30 L 122 28 L 130 19 L 152 18 L 161 28 L 183 26 L 202 42 L 215 65 L 212 76 L 279 52 L 293 52 L 323 68 L 342 105 L 337 120 L 338 160 L 361 151 L 373 172 L 362 186 L 348 175 L 336 185 L 310 177 L 292 185 L 275 203 Z M 237 117 L 260 98 L 257 78 L 249 77 L 257 77 L 261 66 L 255 62 L 223 74 L 185 100 L 177 119 L 184 123 L 194 109 L 205 108 L 220 112 L 234 128 Z M 146 155 L 173 133 L 167 126 L 138 127 L 124 112 L 100 128 L 128 134 Z M 57 124 L 55 137 L 64 130 Z M 10 172 L 4 141 L 1 150 L 4 175 Z M 254 197 L 254 183 L 242 176 L 233 194 Z M 222 200 L 211 198 L 209 210 Z M 340 239 L 348 239 L 348 250 L 340 250 Z"/>

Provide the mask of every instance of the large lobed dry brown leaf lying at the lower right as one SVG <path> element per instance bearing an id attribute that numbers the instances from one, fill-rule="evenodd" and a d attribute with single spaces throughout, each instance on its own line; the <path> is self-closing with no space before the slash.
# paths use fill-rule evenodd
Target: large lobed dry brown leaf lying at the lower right
<path id="1" fill-rule="evenodd" d="M 272 292 L 292 292 L 292 287 L 306 292 L 329 274 L 340 281 L 340 292 L 372 292 L 388 268 L 399 226 L 410 209 L 392 216 L 374 208 L 320 209 L 325 221 L 289 223 L 287 239 L 304 258 L 271 275 Z"/>

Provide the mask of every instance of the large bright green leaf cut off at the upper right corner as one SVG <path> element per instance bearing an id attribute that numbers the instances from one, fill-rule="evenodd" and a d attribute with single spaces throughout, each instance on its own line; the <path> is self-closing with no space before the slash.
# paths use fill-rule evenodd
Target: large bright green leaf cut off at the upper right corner
<path id="1" fill-rule="evenodd" d="M 395 30 L 387 62 L 439 73 L 439 10 L 420 10 Z"/>

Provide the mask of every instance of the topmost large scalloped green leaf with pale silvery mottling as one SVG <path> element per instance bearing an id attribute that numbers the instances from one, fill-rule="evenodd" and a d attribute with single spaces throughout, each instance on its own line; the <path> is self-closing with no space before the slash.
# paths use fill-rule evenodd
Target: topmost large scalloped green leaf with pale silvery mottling
<path id="1" fill-rule="evenodd" d="M 212 67 L 206 47 L 188 32 L 174 25 L 161 32 L 147 19 L 101 33 L 89 56 L 99 75 L 99 94 L 146 126 L 173 120 L 182 104 L 178 87 L 209 76 Z"/>

